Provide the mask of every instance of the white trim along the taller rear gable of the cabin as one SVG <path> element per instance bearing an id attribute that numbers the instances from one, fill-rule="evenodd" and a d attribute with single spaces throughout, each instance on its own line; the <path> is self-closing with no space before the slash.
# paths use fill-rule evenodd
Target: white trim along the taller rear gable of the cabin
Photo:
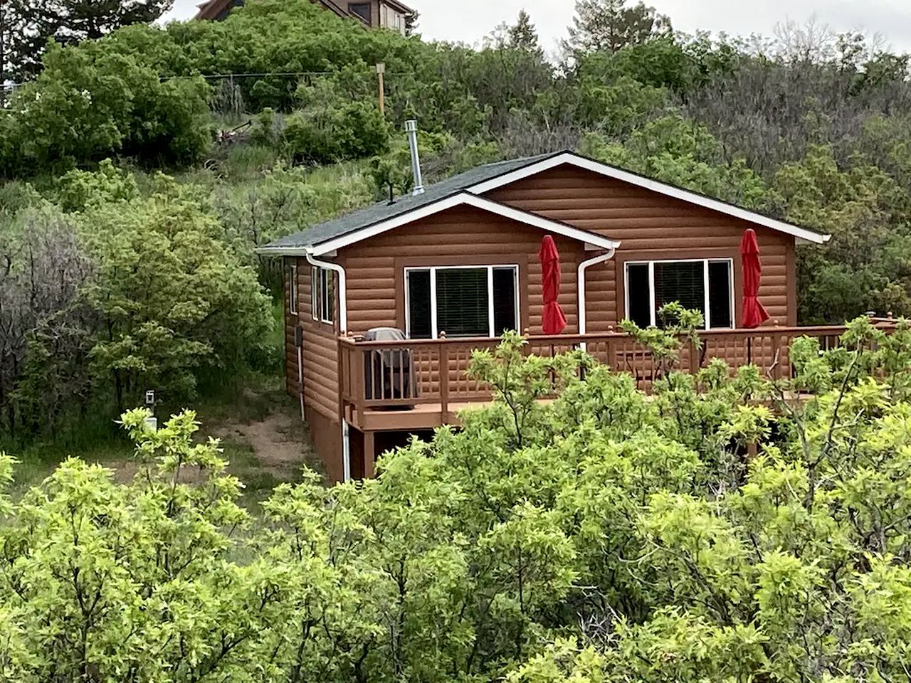
<path id="1" fill-rule="evenodd" d="M 508 185 L 509 183 L 516 182 L 517 180 L 522 180 L 523 178 L 529 178 L 530 176 L 537 175 L 542 171 L 546 171 L 550 168 L 556 168 L 558 166 L 562 166 L 563 164 L 569 164 L 570 166 L 575 166 L 577 168 L 584 168 L 585 170 L 592 171 L 593 173 L 598 173 L 601 176 L 622 180 L 623 182 L 630 183 L 630 185 L 636 185 L 640 188 L 650 189 L 653 192 L 658 192 L 659 194 L 665 195 L 667 197 L 681 199 L 682 201 L 696 204 L 697 206 L 701 206 L 705 209 L 719 211 L 736 219 L 746 220 L 750 223 L 761 225 L 765 228 L 778 230 L 779 232 L 783 232 L 787 235 L 792 235 L 801 242 L 824 244 L 824 242 L 829 241 L 829 239 L 832 237 L 831 235 L 823 235 L 818 232 L 814 232 L 813 230 L 808 230 L 805 228 L 800 228 L 796 225 L 792 225 L 790 223 L 785 223 L 782 220 L 770 219 L 768 216 L 763 216 L 762 214 L 754 213 L 747 209 L 741 209 L 740 207 L 735 207 L 731 204 L 725 204 L 723 201 L 719 201 L 717 199 L 703 197 L 694 192 L 689 192 L 685 189 L 675 188 L 672 185 L 661 183 L 658 180 L 643 178 L 642 176 L 636 175 L 635 173 L 630 173 L 629 171 L 622 170 L 621 168 L 608 166 L 607 164 L 602 164 L 589 158 L 579 157 L 578 155 L 572 154 L 571 152 L 564 152 L 563 154 L 558 154 L 555 157 L 538 161 L 537 163 L 531 164 L 525 168 L 519 168 L 512 173 L 507 173 L 506 175 L 500 176 L 498 178 L 486 180 L 483 183 L 478 183 L 477 185 L 468 188 L 467 191 L 473 192 L 475 194 L 484 194 L 492 189 L 502 188 L 504 185 Z"/>

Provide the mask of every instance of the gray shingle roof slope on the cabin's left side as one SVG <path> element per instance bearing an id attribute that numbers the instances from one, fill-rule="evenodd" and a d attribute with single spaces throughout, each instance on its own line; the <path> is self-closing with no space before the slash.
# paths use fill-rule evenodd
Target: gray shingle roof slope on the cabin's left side
<path id="1" fill-rule="evenodd" d="M 263 247 L 263 250 L 303 249 L 306 247 L 314 247 L 323 242 L 343 237 L 343 235 L 347 235 L 356 230 L 369 228 L 384 220 L 394 219 L 405 213 L 414 211 L 415 209 L 421 209 L 422 207 L 434 204 L 440 199 L 446 199 L 447 197 L 456 195 L 478 183 L 498 178 L 499 176 L 506 175 L 519 168 L 531 166 L 546 158 L 556 157 L 558 154 L 560 153 L 544 154 L 539 157 L 518 158 L 511 161 L 500 161 L 496 164 L 487 164 L 486 166 L 472 168 L 465 173 L 453 176 L 452 178 L 446 178 L 441 182 L 429 186 L 422 195 L 417 195 L 416 197 L 410 195 L 405 196 L 396 199 L 394 204 L 389 204 L 388 202 L 374 204 L 374 206 L 368 207 L 367 209 L 354 211 L 353 213 L 330 220 L 327 223 L 322 223 L 321 225 L 313 226 L 310 229 L 296 232 L 288 237 L 283 237 L 281 240 L 275 240 Z"/>

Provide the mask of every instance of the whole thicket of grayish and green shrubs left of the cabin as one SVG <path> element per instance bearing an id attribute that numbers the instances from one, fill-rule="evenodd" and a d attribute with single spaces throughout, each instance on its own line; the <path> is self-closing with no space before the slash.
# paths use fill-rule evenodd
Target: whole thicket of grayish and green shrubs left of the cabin
<path id="1" fill-rule="evenodd" d="M 207 194 L 172 178 L 142 196 L 109 161 L 71 171 L 0 226 L 0 425 L 48 432 L 158 388 L 192 398 L 200 376 L 271 362 L 271 301 L 251 246 Z M 245 239 L 247 236 L 243 236 Z M 273 367 L 272 365 L 270 367 Z"/>

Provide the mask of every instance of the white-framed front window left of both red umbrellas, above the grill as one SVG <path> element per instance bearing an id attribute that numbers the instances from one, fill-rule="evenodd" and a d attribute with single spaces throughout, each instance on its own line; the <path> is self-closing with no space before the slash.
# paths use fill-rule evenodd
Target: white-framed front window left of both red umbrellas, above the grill
<path id="1" fill-rule="evenodd" d="M 518 266 L 404 269 L 408 339 L 499 337 L 518 330 Z"/>

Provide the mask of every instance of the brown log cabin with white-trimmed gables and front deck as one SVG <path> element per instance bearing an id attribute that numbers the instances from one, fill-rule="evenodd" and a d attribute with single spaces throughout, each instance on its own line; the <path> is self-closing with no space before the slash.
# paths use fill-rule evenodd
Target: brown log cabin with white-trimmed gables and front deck
<path id="1" fill-rule="evenodd" d="M 742 329 L 740 244 L 753 229 L 770 320 Z M 566 329 L 545 336 L 542 238 L 560 257 Z M 304 230 L 260 253 L 284 262 L 287 390 L 333 481 L 371 476 L 377 454 L 458 423 L 491 399 L 466 377 L 478 348 L 523 331 L 530 352 L 583 346 L 643 386 L 650 355 L 618 331 L 698 309 L 701 351 L 788 372 L 797 327 L 795 248 L 827 235 L 571 152 L 490 164 Z M 782 368 L 785 370 L 782 371 Z"/>

